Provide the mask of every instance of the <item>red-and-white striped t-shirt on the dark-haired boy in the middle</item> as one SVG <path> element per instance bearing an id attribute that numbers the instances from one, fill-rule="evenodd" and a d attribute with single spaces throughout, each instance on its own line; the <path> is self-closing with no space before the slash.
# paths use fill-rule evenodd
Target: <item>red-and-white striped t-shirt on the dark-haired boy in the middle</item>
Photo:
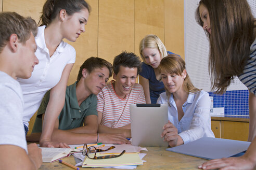
<path id="1" fill-rule="evenodd" d="M 146 101 L 140 84 L 135 83 L 131 92 L 125 98 L 120 98 L 114 91 L 113 82 L 114 80 L 97 95 L 97 111 L 103 113 L 101 125 L 117 128 L 131 123 L 130 104 L 146 103 Z"/>

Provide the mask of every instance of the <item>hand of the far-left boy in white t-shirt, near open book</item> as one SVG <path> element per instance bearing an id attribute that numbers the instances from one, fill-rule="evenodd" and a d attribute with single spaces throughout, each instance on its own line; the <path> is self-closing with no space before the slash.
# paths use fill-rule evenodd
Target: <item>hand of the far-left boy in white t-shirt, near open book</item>
<path id="1" fill-rule="evenodd" d="M 36 169 L 38 169 L 43 162 L 42 150 L 34 143 L 28 145 L 28 152 L 30 160 L 34 163 Z"/>

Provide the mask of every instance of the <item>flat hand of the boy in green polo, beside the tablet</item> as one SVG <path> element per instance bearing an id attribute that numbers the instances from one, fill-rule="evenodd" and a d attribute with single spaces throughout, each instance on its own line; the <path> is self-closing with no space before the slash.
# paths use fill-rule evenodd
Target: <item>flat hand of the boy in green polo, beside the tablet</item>
<path id="1" fill-rule="evenodd" d="M 98 141 L 103 144 L 131 144 L 130 140 L 119 133 L 99 133 Z"/>

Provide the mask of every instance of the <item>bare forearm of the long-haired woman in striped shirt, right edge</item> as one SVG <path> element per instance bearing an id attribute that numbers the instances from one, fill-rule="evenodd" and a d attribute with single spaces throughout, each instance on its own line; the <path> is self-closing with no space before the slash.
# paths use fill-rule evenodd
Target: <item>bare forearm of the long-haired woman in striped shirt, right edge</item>
<path id="1" fill-rule="evenodd" d="M 249 94 L 249 137 L 248 141 L 256 136 L 256 96 L 253 93 Z"/>

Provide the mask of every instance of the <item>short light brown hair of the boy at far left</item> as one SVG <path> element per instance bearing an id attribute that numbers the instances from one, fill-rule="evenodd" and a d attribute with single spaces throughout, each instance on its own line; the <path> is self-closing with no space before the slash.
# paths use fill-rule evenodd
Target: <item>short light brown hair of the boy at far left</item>
<path id="1" fill-rule="evenodd" d="M 16 34 L 19 42 L 24 44 L 30 38 L 31 32 L 36 36 L 37 25 L 31 17 L 24 18 L 16 12 L 0 12 L 0 52 L 11 34 Z"/>

